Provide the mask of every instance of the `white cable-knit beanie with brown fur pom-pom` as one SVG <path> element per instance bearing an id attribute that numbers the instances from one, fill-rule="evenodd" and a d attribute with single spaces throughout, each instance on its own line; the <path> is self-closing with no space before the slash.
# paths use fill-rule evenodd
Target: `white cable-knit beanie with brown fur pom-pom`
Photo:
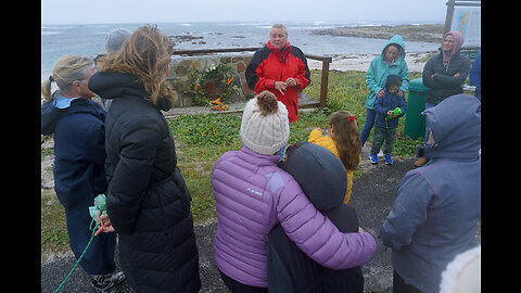
<path id="1" fill-rule="evenodd" d="M 265 90 L 250 100 L 242 114 L 241 141 L 260 154 L 275 154 L 290 139 L 290 123 L 285 105 Z"/>

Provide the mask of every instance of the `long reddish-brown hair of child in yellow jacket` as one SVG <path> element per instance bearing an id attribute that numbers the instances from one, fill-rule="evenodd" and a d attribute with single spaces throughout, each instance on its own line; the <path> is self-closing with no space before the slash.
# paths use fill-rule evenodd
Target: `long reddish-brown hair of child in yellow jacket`
<path id="1" fill-rule="evenodd" d="M 331 138 L 339 149 L 340 161 L 346 170 L 355 170 L 361 153 L 360 132 L 355 116 L 348 111 L 338 111 L 329 118 L 329 125 L 333 127 Z"/>

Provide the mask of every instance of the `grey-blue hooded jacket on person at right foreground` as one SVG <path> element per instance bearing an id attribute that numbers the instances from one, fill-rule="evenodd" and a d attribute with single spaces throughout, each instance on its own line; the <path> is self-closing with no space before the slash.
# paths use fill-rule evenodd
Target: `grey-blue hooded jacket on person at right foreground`
<path id="1" fill-rule="evenodd" d="M 439 292 L 441 272 L 475 245 L 481 216 L 481 102 L 457 94 L 422 112 L 434 143 L 431 160 L 408 171 L 380 230 L 393 267 L 409 284 Z"/>

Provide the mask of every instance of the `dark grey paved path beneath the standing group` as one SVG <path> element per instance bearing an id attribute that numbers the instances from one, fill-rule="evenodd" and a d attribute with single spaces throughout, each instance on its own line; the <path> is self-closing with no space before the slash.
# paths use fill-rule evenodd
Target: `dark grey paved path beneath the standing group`
<path id="1" fill-rule="evenodd" d="M 367 157 L 367 156 L 365 156 Z M 365 160 L 367 161 L 367 160 Z M 378 237 L 378 231 L 387 216 L 394 192 L 405 173 L 411 168 L 414 158 L 395 158 L 394 165 L 368 165 L 363 162 L 365 174 L 353 184 L 352 204 L 356 208 L 363 229 Z M 223 284 L 212 256 L 212 243 L 216 222 L 195 226 L 195 237 L 200 250 L 201 281 L 200 292 L 228 292 Z M 390 292 L 392 284 L 391 250 L 384 251 L 377 239 L 377 254 L 363 267 L 366 292 Z M 116 251 L 117 254 L 117 251 Z M 53 292 L 66 277 L 75 263 L 74 257 L 60 257 L 41 266 L 41 292 Z M 117 263 L 117 256 L 116 256 Z M 118 267 L 118 269 L 120 269 Z M 61 292 L 92 292 L 88 276 L 77 268 Z M 134 292 L 128 282 L 117 286 L 117 292 Z"/>

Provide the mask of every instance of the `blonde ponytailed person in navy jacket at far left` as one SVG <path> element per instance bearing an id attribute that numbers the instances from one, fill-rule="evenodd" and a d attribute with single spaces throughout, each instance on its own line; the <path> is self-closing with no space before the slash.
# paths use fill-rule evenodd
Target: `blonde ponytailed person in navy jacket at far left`
<path id="1" fill-rule="evenodd" d="M 46 102 L 41 105 L 41 133 L 54 136 L 54 191 L 65 208 L 71 250 L 78 259 L 89 242 L 89 206 L 106 191 L 105 111 L 91 100 L 87 84 L 94 73 L 93 62 L 80 55 L 62 56 L 52 75 L 41 84 Z M 51 84 L 58 90 L 51 93 Z M 80 267 L 90 276 L 96 292 L 115 292 L 125 280 L 114 273 L 115 234 L 93 238 Z"/>

